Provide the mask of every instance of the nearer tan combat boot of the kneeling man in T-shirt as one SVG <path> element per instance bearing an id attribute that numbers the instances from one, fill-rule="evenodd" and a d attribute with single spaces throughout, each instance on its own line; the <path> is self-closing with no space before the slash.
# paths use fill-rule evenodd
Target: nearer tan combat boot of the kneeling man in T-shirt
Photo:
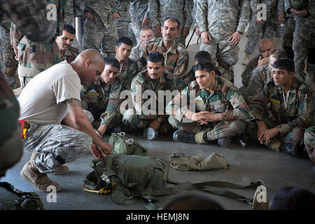
<path id="1" fill-rule="evenodd" d="M 59 183 L 51 181 L 47 174 L 39 172 L 35 166 L 34 160 L 29 160 L 20 172 L 22 178 L 31 183 L 38 191 L 47 192 L 49 186 L 55 186 L 56 191 L 59 191 L 61 187 Z"/>

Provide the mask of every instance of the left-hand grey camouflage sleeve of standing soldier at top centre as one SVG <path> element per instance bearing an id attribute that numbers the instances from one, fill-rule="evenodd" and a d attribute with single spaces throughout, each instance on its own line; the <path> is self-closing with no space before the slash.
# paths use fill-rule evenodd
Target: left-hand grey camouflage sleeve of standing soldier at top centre
<path id="1" fill-rule="evenodd" d="M 200 29 L 200 34 L 203 31 L 208 31 L 208 1 L 197 0 L 195 20 L 197 27 Z"/>

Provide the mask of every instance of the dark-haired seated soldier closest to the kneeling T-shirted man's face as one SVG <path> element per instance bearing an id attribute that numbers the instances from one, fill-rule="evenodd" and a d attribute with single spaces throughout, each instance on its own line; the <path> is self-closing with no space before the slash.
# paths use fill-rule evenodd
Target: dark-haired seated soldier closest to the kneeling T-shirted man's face
<path id="1" fill-rule="evenodd" d="M 120 64 L 115 57 L 105 57 L 105 68 L 97 80 L 81 86 L 81 102 L 85 113 L 92 113 L 97 134 L 102 138 L 106 130 L 120 123 L 118 105 L 121 85 L 117 78 Z"/>

